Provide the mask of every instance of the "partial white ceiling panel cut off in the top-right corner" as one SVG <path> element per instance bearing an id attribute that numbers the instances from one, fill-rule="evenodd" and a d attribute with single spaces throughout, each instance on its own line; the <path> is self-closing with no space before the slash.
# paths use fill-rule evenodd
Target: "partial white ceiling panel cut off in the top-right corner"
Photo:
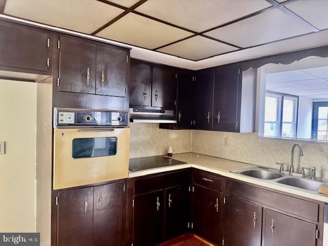
<path id="1" fill-rule="evenodd" d="M 320 30 L 328 28 L 327 0 L 300 0 L 285 7 Z"/>

